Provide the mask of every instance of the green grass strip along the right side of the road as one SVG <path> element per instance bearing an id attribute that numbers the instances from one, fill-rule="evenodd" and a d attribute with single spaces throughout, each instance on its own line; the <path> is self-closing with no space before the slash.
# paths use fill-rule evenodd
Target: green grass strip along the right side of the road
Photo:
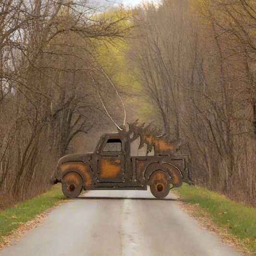
<path id="1" fill-rule="evenodd" d="M 187 184 L 175 189 L 184 203 L 199 204 L 219 227 L 226 228 L 252 252 L 256 252 L 256 208 L 226 199 L 223 195 Z"/>

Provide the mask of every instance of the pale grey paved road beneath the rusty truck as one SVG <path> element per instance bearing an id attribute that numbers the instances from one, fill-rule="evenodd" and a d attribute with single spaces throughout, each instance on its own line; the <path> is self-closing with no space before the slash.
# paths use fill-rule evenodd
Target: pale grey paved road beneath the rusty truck
<path id="1" fill-rule="evenodd" d="M 0 256 L 239 256 L 183 213 L 172 194 L 90 191 L 54 209 Z"/>

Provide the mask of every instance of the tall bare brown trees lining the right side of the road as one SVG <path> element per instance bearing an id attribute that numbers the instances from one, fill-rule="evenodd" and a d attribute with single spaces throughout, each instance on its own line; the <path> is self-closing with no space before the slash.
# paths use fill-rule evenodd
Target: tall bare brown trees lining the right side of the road
<path id="1" fill-rule="evenodd" d="M 141 116 L 185 138 L 195 184 L 256 207 L 255 1 L 162 0 L 136 13 L 129 57 L 151 105 Z"/>

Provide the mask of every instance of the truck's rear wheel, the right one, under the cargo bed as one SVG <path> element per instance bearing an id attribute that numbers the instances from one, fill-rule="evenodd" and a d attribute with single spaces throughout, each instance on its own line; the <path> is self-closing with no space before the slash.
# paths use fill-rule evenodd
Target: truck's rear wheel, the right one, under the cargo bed
<path id="1" fill-rule="evenodd" d="M 170 181 L 164 171 L 155 171 L 150 176 L 150 191 L 157 198 L 164 198 L 170 192 Z"/>

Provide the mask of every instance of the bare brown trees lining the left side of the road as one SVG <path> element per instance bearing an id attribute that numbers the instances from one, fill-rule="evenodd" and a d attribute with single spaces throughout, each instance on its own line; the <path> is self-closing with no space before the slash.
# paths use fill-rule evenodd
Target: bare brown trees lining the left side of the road
<path id="1" fill-rule="evenodd" d="M 108 127 L 96 88 L 118 119 L 103 56 L 130 19 L 87 0 L 0 1 L 0 209 L 46 192 L 58 159 Z"/>

